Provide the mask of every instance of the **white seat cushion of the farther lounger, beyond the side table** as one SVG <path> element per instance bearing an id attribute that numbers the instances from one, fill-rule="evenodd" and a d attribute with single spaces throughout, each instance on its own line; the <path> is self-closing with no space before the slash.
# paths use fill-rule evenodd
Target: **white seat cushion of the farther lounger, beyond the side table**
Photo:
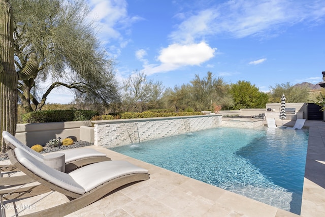
<path id="1" fill-rule="evenodd" d="M 69 150 L 58 151 L 64 153 L 66 157 L 66 163 L 76 161 L 82 158 L 90 158 L 90 157 L 106 157 L 105 153 L 96 151 L 92 148 L 73 148 Z"/>

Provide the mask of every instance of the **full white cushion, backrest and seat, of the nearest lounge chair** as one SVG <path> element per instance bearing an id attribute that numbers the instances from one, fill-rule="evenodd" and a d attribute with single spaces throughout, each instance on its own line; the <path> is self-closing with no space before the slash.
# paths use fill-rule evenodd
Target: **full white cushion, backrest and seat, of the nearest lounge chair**
<path id="1" fill-rule="evenodd" d="M 67 174 L 50 168 L 20 148 L 15 148 L 14 151 L 17 160 L 32 173 L 60 188 L 81 195 L 124 175 L 148 173 L 148 170 L 126 161 L 103 161 L 81 167 Z"/>

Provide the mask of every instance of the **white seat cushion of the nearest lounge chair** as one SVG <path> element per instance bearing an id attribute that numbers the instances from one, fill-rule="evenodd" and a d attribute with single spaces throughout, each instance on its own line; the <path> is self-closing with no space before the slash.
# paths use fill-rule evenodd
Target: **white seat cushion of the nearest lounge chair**
<path id="1" fill-rule="evenodd" d="M 69 175 L 88 192 L 109 180 L 134 173 L 148 173 L 148 170 L 127 161 L 104 161 L 81 167 Z"/>

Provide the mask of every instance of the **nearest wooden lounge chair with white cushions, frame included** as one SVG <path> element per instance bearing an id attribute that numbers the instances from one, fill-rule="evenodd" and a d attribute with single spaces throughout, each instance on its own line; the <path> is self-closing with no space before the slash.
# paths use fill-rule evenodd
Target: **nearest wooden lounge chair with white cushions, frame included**
<path id="1" fill-rule="evenodd" d="M 30 178 L 71 199 L 67 203 L 36 210 L 26 216 L 64 216 L 88 206 L 123 185 L 149 179 L 148 170 L 126 161 L 104 161 L 64 173 L 45 165 L 20 148 L 10 149 L 8 154 L 11 163 Z"/>

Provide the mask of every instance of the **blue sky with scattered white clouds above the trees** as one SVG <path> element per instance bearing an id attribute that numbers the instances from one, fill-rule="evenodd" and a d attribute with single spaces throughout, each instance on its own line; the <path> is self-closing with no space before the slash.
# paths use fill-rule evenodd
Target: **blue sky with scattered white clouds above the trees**
<path id="1" fill-rule="evenodd" d="M 136 70 L 165 87 L 208 71 L 226 83 L 250 81 L 261 91 L 276 83 L 322 81 L 323 0 L 87 2 L 120 82 Z M 58 99 L 69 103 L 72 97 L 60 90 L 47 102 Z"/>

